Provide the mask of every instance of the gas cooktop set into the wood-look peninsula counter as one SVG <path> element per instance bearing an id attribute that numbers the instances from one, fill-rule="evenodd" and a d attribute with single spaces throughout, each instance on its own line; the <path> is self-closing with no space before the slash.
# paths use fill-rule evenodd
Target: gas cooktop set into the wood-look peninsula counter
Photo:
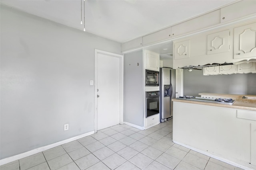
<path id="1" fill-rule="evenodd" d="M 201 98 L 201 97 L 194 97 L 194 96 L 180 96 L 176 99 L 182 100 L 192 100 L 192 101 L 199 101 L 199 102 L 210 102 L 210 103 L 218 103 L 218 104 L 226 104 L 232 105 L 235 101 L 232 99 L 222 99 L 222 98 Z"/>

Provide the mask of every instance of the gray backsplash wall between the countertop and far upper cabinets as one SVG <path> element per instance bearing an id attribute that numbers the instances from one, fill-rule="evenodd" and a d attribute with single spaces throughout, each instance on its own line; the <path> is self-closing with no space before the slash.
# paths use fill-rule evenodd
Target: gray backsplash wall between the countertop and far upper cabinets
<path id="1" fill-rule="evenodd" d="M 228 74 L 203 76 L 203 70 L 184 70 L 184 95 L 198 93 L 256 95 L 256 74 Z"/>

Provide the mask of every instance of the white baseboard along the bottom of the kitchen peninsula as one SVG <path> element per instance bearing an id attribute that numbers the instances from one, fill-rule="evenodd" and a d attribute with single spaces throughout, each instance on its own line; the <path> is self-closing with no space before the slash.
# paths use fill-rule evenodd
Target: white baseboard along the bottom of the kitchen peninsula
<path id="1" fill-rule="evenodd" d="M 213 154 L 210 154 L 210 153 L 208 153 L 208 152 L 204 152 L 204 151 L 202 151 L 202 150 L 195 149 L 195 148 L 190 147 L 190 146 L 188 146 L 188 145 L 185 145 L 185 144 L 183 144 L 183 143 L 179 143 L 179 142 L 174 141 L 174 140 L 173 140 L 173 143 L 176 143 L 176 144 L 181 145 L 181 146 L 183 146 L 183 147 L 189 148 L 189 149 L 194 150 L 194 151 L 196 151 L 196 152 L 199 152 L 199 153 L 201 153 L 201 154 L 205 154 L 205 155 L 207 155 L 207 156 L 210 156 L 210 157 L 212 157 L 212 158 L 214 158 L 214 159 L 220 160 L 220 161 L 225 162 L 225 163 L 227 163 L 227 164 L 230 164 L 230 165 L 233 165 L 233 166 L 237 166 L 237 167 L 242 168 L 242 169 L 245 169 L 245 170 L 252 170 L 252 168 L 249 168 L 249 167 L 240 165 L 240 164 L 235 163 L 235 162 L 232 162 L 232 161 L 230 161 L 230 160 L 226 160 L 226 159 L 224 159 L 224 158 L 218 157 L 218 156 L 213 155 Z"/>

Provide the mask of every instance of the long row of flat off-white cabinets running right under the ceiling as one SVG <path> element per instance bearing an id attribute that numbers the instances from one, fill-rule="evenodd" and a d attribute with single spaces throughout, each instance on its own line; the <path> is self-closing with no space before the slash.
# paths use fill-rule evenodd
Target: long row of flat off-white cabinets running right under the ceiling
<path id="1" fill-rule="evenodd" d="M 121 51 L 125 53 L 129 50 L 139 49 L 143 46 L 152 45 L 161 41 L 174 38 L 177 39 L 178 37 L 184 38 L 185 36 L 206 32 L 214 28 L 218 29 L 227 25 L 250 21 L 256 18 L 255 9 L 256 0 L 241 0 L 215 11 L 202 14 L 201 16 L 150 33 L 138 39 L 122 43 Z M 233 35 L 233 30 L 231 30 L 231 34 Z M 233 41 L 230 39 L 230 43 L 232 42 Z"/>

